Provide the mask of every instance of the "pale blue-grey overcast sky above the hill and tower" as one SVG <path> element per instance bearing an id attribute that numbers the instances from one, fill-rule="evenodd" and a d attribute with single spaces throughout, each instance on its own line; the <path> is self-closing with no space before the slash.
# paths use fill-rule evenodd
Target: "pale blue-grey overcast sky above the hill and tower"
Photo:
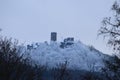
<path id="1" fill-rule="evenodd" d="M 2 35 L 22 43 L 58 41 L 73 36 L 86 45 L 111 53 L 97 31 L 104 17 L 111 13 L 114 0 L 0 0 Z"/>

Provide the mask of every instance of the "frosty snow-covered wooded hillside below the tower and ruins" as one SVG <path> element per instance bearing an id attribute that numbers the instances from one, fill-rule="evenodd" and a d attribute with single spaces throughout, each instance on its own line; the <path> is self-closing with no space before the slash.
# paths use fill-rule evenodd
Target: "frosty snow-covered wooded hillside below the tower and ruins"
<path id="1" fill-rule="evenodd" d="M 37 43 L 34 44 L 33 49 L 27 51 L 35 63 L 49 68 L 58 67 L 59 64 L 64 64 L 67 61 L 67 67 L 70 69 L 91 70 L 94 68 L 99 70 L 104 67 L 103 59 L 109 57 L 80 41 L 67 48 L 60 48 L 60 43 L 56 42 Z"/>

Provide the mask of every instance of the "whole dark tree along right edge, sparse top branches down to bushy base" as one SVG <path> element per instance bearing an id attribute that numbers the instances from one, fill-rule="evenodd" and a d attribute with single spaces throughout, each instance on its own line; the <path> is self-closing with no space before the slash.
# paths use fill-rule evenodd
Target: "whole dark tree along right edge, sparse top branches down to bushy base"
<path id="1" fill-rule="evenodd" d="M 99 30 L 99 35 L 107 38 L 108 43 L 113 50 L 114 54 L 120 54 L 120 1 L 116 1 L 111 10 L 114 12 L 113 16 L 106 17 L 102 21 L 102 27 Z M 109 60 L 105 60 L 106 68 L 102 69 L 108 80 L 120 80 L 120 59 L 113 56 Z"/>

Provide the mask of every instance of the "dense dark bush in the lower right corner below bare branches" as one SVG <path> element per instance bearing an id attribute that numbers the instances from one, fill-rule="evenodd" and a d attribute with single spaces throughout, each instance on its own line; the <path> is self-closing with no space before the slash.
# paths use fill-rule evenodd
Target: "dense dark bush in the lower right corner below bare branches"
<path id="1" fill-rule="evenodd" d="M 120 80 L 120 59 L 117 56 L 104 60 L 105 66 L 102 72 L 108 80 Z"/>

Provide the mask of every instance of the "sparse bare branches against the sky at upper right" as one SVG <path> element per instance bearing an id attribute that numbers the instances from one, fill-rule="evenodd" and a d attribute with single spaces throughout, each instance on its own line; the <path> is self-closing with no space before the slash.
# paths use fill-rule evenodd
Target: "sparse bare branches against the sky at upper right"
<path id="1" fill-rule="evenodd" d="M 120 2 L 120 1 L 119 1 Z M 108 39 L 108 44 L 113 47 L 113 50 L 120 53 L 120 4 L 115 2 L 111 10 L 113 16 L 105 17 L 102 21 L 102 27 L 99 29 L 98 35 L 103 35 Z"/>

